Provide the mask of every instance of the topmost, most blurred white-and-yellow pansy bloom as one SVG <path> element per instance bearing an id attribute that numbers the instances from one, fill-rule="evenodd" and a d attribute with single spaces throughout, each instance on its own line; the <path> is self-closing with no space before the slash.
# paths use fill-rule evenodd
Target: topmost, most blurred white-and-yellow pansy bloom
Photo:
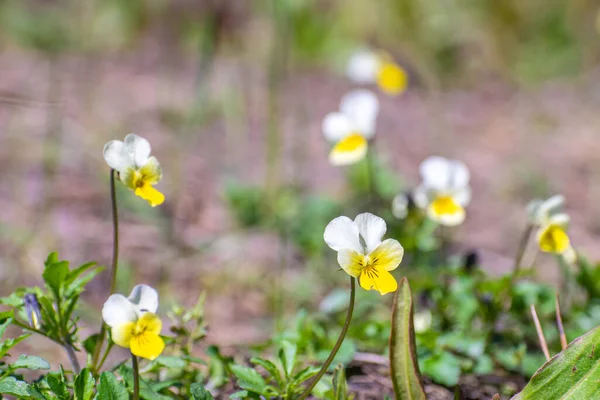
<path id="1" fill-rule="evenodd" d="M 384 51 L 359 50 L 350 57 L 348 77 L 358 84 L 376 83 L 387 94 L 400 94 L 406 90 L 408 75 Z"/>

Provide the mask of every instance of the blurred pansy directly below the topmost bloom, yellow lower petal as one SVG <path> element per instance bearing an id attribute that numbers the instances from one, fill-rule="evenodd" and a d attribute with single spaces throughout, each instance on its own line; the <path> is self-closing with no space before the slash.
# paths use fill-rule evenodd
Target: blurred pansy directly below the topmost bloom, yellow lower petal
<path id="1" fill-rule="evenodd" d="M 340 111 L 329 113 L 323 120 L 323 135 L 334 144 L 329 153 L 333 165 L 349 165 L 360 161 L 375 135 L 379 101 L 366 89 L 353 90 L 340 102 Z"/>

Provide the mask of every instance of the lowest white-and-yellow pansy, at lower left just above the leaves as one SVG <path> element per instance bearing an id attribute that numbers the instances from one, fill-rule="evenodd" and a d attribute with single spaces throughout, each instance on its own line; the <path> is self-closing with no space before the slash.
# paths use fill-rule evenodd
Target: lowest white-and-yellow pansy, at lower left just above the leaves
<path id="1" fill-rule="evenodd" d="M 156 290 L 148 285 L 137 285 L 129 297 L 111 295 L 102 308 L 102 318 L 111 328 L 113 342 L 130 349 L 135 356 L 154 360 L 165 348 L 157 309 Z"/>

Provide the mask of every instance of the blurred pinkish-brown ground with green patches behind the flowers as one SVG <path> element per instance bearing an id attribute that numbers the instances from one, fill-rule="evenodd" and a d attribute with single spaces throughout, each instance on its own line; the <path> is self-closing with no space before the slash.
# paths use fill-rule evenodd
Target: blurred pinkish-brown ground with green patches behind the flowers
<path id="1" fill-rule="evenodd" d="M 473 201 L 456 252 L 507 272 L 525 205 L 561 193 L 574 246 L 597 258 L 599 11 L 591 0 L 0 0 L 0 291 L 39 285 L 53 250 L 110 265 L 102 148 L 135 132 L 167 200 L 150 208 L 119 185 L 121 292 L 144 282 L 185 305 L 206 292 L 208 341 L 224 346 L 316 307 L 346 283 L 325 225 L 368 211 L 363 170 L 329 165 L 321 133 L 363 47 L 410 75 L 402 96 L 379 95 L 383 194 L 416 185 L 429 155 L 461 159 Z M 107 290 L 108 274 L 89 286 L 83 337 Z"/>

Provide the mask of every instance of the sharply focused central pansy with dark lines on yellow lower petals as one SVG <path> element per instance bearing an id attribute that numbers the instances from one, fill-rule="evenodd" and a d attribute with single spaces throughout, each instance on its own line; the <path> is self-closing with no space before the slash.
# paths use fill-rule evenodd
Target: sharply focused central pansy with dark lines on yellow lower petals
<path id="1" fill-rule="evenodd" d="M 385 221 L 373 214 L 358 215 L 354 221 L 338 217 L 325 228 L 325 243 L 338 252 L 338 263 L 363 289 L 378 290 L 382 295 L 398 288 L 390 274 L 398 267 L 404 248 L 395 239 L 382 241 Z"/>

